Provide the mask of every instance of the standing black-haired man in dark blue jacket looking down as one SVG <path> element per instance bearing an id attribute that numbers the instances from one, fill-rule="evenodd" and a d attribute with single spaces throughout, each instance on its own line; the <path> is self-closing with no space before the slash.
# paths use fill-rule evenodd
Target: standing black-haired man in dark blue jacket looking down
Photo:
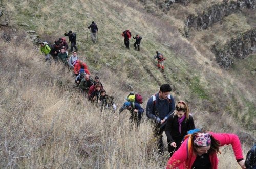
<path id="1" fill-rule="evenodd" d="M 148 99 L 146 106 L 146 116 L 154 123 L 154 136 L 158 147 L 159 155 L 163 155 L 163 132 L 168 118 L 175 110 L 175 102 L 172 95 L 170 95 L 172 88 L 169 84 L 160 86 L 158 93 Z M 166 122 L 165 122 L 166 121 Z M 167 139 L 170 144 L 170 140 Z"/>

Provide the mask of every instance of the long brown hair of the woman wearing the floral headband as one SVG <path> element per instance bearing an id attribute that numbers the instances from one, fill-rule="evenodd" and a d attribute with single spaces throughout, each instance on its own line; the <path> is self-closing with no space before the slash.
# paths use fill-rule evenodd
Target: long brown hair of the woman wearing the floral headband
<path id="1" fill-rule="evenodd" d="M 198 146 L 194 143 L 194 139 L 196 137 L 196 135 L 198 133 L 208 133 L 208 132 L 205 132 L 205 131 L 200 131 L 200 132 L 195 132 L 191 135 L 191 140 L 192 140 L 192 150 L 194 153 L 197 152 L 197 148 L 200 148 L 202 146 Z M 213 154 L 213 153 L 221 153 L 219 148 L 220 148 L 221 144 L 218 140 L 216 140 L 212 135 L 210 135 L 210 149 L 208 150 L 208 153 L 209 154 Z"/>

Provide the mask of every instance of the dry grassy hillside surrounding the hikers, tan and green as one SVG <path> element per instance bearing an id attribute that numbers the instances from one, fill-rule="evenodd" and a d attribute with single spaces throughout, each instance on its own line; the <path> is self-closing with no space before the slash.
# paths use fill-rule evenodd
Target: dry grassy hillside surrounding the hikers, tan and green
<path id="1" fill-rule="evenodd" d="M 118 108 L 130 91 L 143 95 L 145 108 L 160 84 L 169 83 L 175 100 L 189 103 L 196 126 L 218 132 L 255 130 L 254 86 L 250 91 L 244 88 L 245 81 L 237 81 L 239 74 L 222 70 L 196 50 L 168 16 L 147 13 L 133 0 L 2 1 L 1 6 L 9 28 L 16 29 L 2 28 L 2 35 L 18 36 L 11 42 L 1 39 L 0 44 L 3 167 L 163 168 L 167 161 L 166 156 L 156 156 L 146 120 L 135 130 L 128 113 L 99 113 L 80 96 L 71 72 L 61 65 L 45 66 L 44 56 L 26 37 L 27 30 L 51 42 L 69 30 L 76 32 L 78 55 L 93 76 L 100 76 Z M 96 44 L 90 35 L 87 40 L 87 26 L 93 20 L 99 27 Z M 125 29 L 143 37 L 140 52 L 125 49 L 121 37 Z M 167 58 L 164 74 L 156 68 L 156 50 Z M 249 71 L 243 65 L 234 66 Z M 233 158 L 225 161 L 237 167 Z"/>

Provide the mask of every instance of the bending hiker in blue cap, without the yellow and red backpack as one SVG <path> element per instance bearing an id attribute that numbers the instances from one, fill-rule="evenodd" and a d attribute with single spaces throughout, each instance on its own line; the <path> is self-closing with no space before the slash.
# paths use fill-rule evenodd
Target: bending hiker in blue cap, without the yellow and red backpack
<path id="1" fill-rule="evenodd" d="M 119 114 L 125 109 L 129 110 L 131 114 L 131 117 L 130 117 L 131 123 L 134 122 L 136 127 L 139 127 L 141 117 L 144 113 L 144 109 L 137 102 L 134 102 L 134 105 L 132 105 L 131 102 L 124 102 L 123 106 L 119 109 Z"/>

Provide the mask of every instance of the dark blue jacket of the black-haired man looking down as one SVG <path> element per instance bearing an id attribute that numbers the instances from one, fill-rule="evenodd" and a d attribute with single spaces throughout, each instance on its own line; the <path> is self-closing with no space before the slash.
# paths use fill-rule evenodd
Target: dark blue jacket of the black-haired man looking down
<path id="1" fill-rule="evenodd" d="M 146 116 L 152 119 L 154 122 L 160 123 L 161 120 L 169 118 L 175 110 L 175 101 L 172 95 L 169 99 L 161 100 L 159 99 L 159 93 L 156 93 L 155 105 L 153 102 L 153 97 L 148 99 L 146 105 Z"/>

